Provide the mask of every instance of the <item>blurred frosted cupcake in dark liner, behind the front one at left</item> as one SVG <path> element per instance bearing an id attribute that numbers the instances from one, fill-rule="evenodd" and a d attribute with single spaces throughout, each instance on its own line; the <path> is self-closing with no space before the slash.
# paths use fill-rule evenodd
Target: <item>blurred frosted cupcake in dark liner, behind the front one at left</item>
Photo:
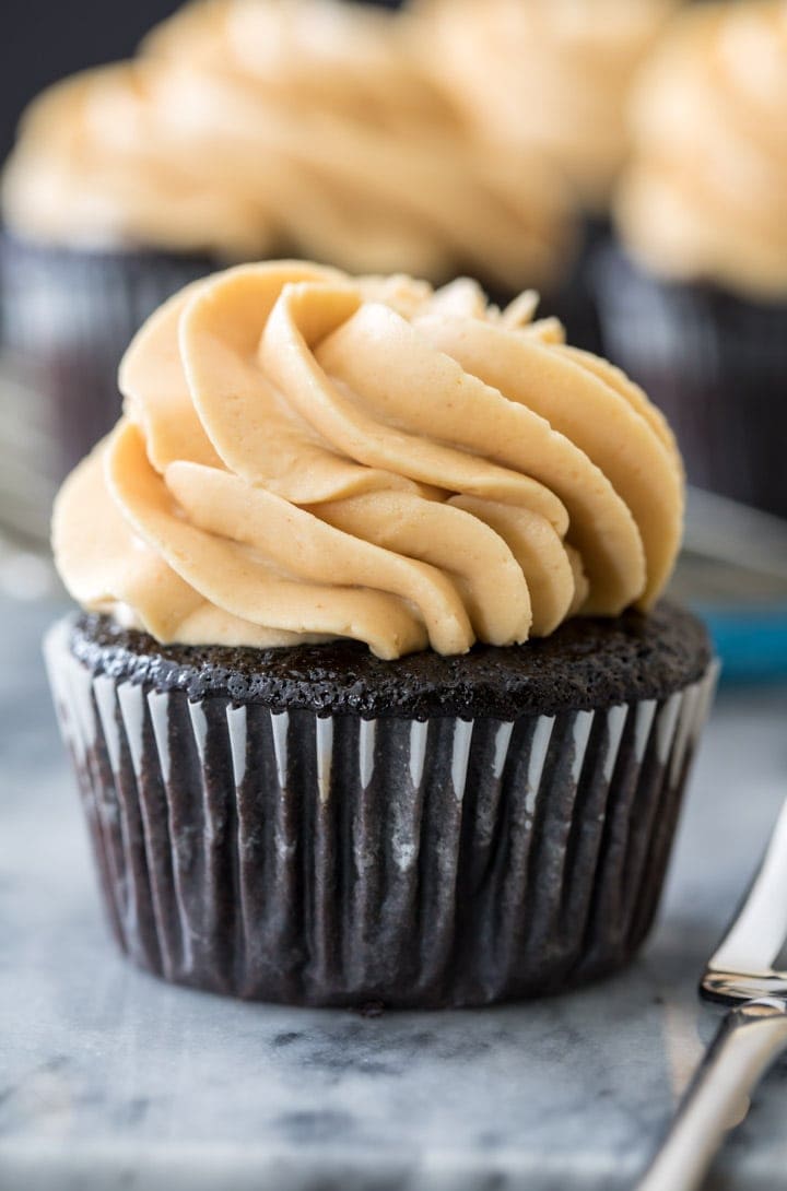
<path id="1" fill-rule="evenodd" d="M 4 177 L 2 297 L 51 485 L 113 425 L 140 322 L 219 266 L 469 270 L 505 293 L 556 275 L 563 183 L 532 149 L 491 158 L 407 30 L 337 0 L 196 4 L 137 61 L 32 105 Z"/>

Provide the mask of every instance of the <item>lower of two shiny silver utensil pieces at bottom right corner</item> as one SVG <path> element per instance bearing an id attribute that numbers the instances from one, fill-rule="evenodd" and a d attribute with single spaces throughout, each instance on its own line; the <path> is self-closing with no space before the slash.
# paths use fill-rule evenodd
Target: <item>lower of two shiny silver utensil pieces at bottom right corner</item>
<path id="1" fill-rule="evenodd" d="M 749 1095 L 787 1046 L 787 999 L 731 1009 L 688 1086 L 637 1191 L 693 1191 L 724 1135 L 747 1115 Z"/>

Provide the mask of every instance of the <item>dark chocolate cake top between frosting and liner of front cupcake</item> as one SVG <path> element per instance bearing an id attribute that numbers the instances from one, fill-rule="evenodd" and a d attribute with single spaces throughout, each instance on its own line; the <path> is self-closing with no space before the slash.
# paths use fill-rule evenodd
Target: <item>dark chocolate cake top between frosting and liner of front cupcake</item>
<path id="1" fill-rule="evenodd" d="M 93 673 L 276 710 L 364 718 L 516 719 L 663 699 L 697 681 L 712 649 L 702 624 L 675 605 L 616 619 L 573 619 L 524 646 L 431 650 L 381 661 L 355 641 L 287 649 L 162 646 L 110 617 L 75 619 L 71 650 Z"/>

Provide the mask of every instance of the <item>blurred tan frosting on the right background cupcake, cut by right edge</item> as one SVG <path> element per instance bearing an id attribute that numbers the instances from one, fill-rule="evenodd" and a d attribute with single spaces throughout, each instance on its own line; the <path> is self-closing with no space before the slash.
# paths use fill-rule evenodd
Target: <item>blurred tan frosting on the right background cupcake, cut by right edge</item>
<path id="1" fill-rule="evenodd" d="M 676 24 L 633 106 L 622 238 L 657 274 L 787 295 L 787 5 L 707 5 Z"/>

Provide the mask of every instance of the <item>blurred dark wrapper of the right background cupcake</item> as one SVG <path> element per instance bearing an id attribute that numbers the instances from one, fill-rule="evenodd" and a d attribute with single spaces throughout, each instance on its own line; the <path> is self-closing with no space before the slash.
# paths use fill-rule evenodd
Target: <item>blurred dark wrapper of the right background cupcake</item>
<path id="1" fill-rule="evenodd" d="M 787 517 L 787 303 L 648 275 L 597 249 L 605 354 L 667 414 L 689 481 Z"/>

